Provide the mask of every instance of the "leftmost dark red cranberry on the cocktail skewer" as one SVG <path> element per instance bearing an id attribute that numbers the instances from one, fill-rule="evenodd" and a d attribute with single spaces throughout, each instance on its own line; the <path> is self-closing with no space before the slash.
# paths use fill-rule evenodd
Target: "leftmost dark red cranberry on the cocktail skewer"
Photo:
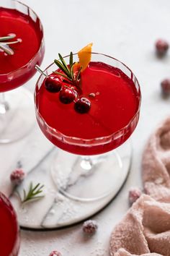
<path id="1" fill-rule="evenodd" d="M 50 75 L 45 80 L 45 88 L 50 93 L 58 93 L 61 90 L 62 87 L 62 80 L 60 77 L 56 75 Z"/>

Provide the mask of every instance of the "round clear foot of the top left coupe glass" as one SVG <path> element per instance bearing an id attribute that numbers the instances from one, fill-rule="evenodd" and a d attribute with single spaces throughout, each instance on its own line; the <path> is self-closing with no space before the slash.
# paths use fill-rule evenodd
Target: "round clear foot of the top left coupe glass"
<path id="1" fill-rule="evenodd" d="M 0 106 L 0 143 L 22 139 L 34 124 L 33 95 L 23 88 L 6 92 L 4 104 Z"/>

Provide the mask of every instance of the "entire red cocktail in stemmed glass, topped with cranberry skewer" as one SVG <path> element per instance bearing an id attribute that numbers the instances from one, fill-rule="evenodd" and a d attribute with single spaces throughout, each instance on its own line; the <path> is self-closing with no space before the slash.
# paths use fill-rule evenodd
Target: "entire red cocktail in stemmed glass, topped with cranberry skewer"
<path id="1" fill-rule="evenodd" d="M 79 61 L 77 54 L 73 57 L 77 63 Z M 64 59 L 69 64 L 68 56 Z M 104 172 L 104 168 L 107 168 L 104 167 L 104 163 L 111 163 L 112 158 L 115 157 L 114 149 L 122 145 L 133 133 L 139 119 L 140 87 L 138 80 L 128 67 L 104 54 L 91 54 L 91 62 L 81 72 L 80 88 L 69 85 L 69 81 L 63 79 L 60 74 L 52 74 L 55 70 L 61 72 L 60 69 L 56 69 L 55 64 L 51 64 L 44 73 L 48 77 L 55 75 L 58 76 L 58 80 L 62 80 L 60 90 L 54 91 L 52 85 L 48 86 L 47 78 L 43 75 L 37 81 L 35 89 L 37 122 L 48 140 L 58 148 L 77 155 L 90 155 L 88 157 L 69 155 L 69 159 L 73 158 L 73 161 L 65 182 L 61 181 L 61 173 L 65 171 L 64 163 L 58 164 L 56 161 L 53 168 L 53 176 L 61 192 L 78 198 L 81 197 L 80 193 L 72 193 L 71 187 L 80 182 L 82 176 L 91 176 L 96 169 L 96 172 L 101 173 L 100 182 L 103 182 L 101 177 L 103 174 L 107 176 L 108 172 L 108 170 Z M 71 102 L 66 101 L 69 90 L 73 90 L 74 93 Z M 79 104 L 80 101 L 81 104 Z M 94 155 L 93 158 L 91 155 Z M 59 153 L 58 157 L 65 161 L 66 156 L 63 158 L 62 153 Z M 121 172 L 127 155 L 121 158 L 121 155 L 116 154 L 116 158 Z M 130 158 L 130 150 L 128 158 Z M 128 168 L 129 165 L 127 170 Z M 105 187 L 105 191 L 102 192 L 104 196 L 108 191 L 110 192 L 112 179 L 117 179 L 116 177 L 113 171 L 110 181 L 99 185 L 99 195 L 101 195 L 101 187 L 102 191 Z M 118 180 L 117 182 L 119 183 Z M 122 181 L 120 183 L 117 190 L 120 189 Z M 97 184 L 94 187 L 96 186 Z M 88 184 L 85 190 L 88 190 Z M 97 199 L 99 195 L 92 198 Z"/>

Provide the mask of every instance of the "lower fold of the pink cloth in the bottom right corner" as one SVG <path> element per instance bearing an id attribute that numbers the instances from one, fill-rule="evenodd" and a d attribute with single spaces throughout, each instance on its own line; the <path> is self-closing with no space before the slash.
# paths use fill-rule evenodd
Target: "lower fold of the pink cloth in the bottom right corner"
<path id="1" fill-rule="evenodd" d="M 110 255 L 154 255 L 150 252 L 170 256 L 170 204 L 142 195 L 112 231 Z"/>

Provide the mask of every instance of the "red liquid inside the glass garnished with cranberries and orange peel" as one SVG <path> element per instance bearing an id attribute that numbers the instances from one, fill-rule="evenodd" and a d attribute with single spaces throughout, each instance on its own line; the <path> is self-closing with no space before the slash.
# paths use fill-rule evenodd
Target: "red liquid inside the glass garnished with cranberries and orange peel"
<path id="1" fill-rule="evenodd" d="M 107 137 L 125 127 L 138 111 L 140 91 L 135 88 L 133 80 L 130 80 L 120 69 L 111 67 L 101 62 L 91 62 L 89 67 L 81 74 L 82 90 L 86 98 L 89 93 L 95 93 L 95 98 L 89 98 L 91 109 L 87 114 L 79 114 L 73 108 L 73 103 L 64 105 L 58 98 L 59 93 L 49 93 L 45 90 L 44 83 L 40 90 L 36 88 L 37 111 L 49 127 L 69 137 L 78 137 L 85 140 L 97 137 Z M 42 132 L 46 137 L 63 150 L 82 155 L 94 155 L 104 153 L 122 144 L 131 135 L 138 122 L 133 123 L 119 140 L 102 145 L 71 145 L 58 140 L 51 135 L 45 125 Z M 81 141 L 83 144 L 83 142 Z"/>

